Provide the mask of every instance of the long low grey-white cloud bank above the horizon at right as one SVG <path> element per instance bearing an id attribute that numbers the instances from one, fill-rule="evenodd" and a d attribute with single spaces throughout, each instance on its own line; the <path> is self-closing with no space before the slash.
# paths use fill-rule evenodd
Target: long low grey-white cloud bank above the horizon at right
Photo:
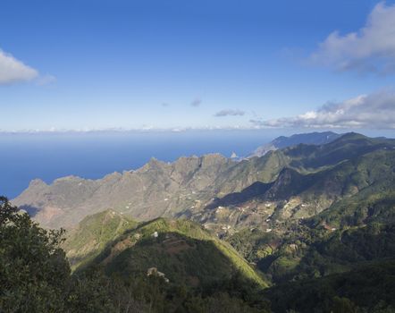
<path id="1" fill-rule="evenodd" d="M 256 127 L 395 129 L 395 94 L 384 90 L 294 117 L 250 122 Z"/>

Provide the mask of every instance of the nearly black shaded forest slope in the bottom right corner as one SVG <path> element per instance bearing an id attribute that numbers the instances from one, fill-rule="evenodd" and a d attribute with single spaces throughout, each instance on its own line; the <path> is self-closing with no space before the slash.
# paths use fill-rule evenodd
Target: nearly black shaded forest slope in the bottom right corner
<path id="1" fill-rule="evenodd" d="M 275 312 L 357 312 L 357 307 L 373 312 L 378 306 L 395 308 L 395 261 L 320 279 L 283 283 L 265 294 Z"/>

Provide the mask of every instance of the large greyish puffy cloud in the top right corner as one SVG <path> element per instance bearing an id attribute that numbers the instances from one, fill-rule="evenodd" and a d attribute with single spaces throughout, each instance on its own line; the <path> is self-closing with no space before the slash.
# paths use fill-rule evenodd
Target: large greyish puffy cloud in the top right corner
<path id="1" fill-rule="evenodd" d="M 376 4 L 357 32 L 332 32 L 310 60 L 338 71 L 395 72 L 395 4 Z"/>

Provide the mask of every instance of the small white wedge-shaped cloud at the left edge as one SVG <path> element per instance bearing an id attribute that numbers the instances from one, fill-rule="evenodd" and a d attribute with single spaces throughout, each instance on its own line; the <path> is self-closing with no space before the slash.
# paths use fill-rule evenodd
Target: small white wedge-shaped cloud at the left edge
<path id="1" fill-rule="evenodd" d="M 0 50 L 0 85 L 33 80 L 38 71 Z"/>

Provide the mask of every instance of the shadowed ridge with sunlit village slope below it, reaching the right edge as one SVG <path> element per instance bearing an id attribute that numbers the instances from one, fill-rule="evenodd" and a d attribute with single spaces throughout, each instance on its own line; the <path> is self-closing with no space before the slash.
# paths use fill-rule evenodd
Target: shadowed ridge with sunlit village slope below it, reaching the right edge
<path id="1" fill-rule="evenodd" d="M 274 182 L 255 182 L 240 192 L 214 199 L 188 217 L 216 233 L 242 227 L 278 232 L 283 223 L 311 216 L 315 216 L 315 224 L 332 227 L 363 224 L 366 218 L 395 221 L 391 211 L 394 168 L 393 149 L 378 149 L 315 173 L 284 168 Z"/>

